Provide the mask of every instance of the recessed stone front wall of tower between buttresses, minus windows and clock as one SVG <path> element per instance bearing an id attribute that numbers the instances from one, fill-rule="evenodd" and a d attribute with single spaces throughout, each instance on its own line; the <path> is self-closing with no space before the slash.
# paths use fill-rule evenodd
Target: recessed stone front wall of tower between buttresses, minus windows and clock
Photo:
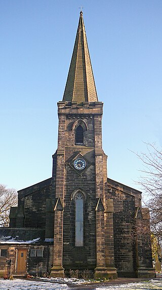
<path id="1" fill-rule="evenodd" d="M 66 118 L 63 222 L 63 267 L 66 269 L 94 269 L 96 265 L 94 119 L 84 116 L 82 120 L 88 126 L 88 131 L 85 131 L 86 147 L 74 145 L 72 127 L 77 117 Z M 84 156 L 89 165 L 81 175 L 69 165 L 79 153 Z M 71 195 L 78 188 L 87 195 L 84 203 L 84 247 L 75 247 L 75 205 Z"/>

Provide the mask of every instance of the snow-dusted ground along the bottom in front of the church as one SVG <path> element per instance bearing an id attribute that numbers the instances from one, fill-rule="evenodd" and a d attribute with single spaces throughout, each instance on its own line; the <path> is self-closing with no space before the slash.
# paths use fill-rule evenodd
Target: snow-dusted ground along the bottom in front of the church
<path id="1" fill-rule="evenodd" d="M 49 279 L 48 279 L 49 280 Z M 63 279 L 64 280 L 64 279 Z M 44 282 L 45 281 L 45 282 Z M 71 279 L 66 279 L 67 283 L 71 283 Z M 74 280 L 73 280 L 74 283 Z M 109 286 L 107 283 L 101 283 L 100 285 L 92 285 L 90 284 L 84 285 L 81 283 L 78 287 L 78 281 L 76 281 L 77 289 L 94 289 L 94 290 L 160 290 L 162 289 L 162 279 L 160 280 L 150 280 L 143 281 L 139 283 L 128 283 L 128 284 L 116 284 L 113 286 Z M 0 279 L 0 290 L 74 290 L 75 287 L 70 288 L 65 283 L 57 283 L 54 280 L 52 282 L 46 282 L 46 279 L 43 281 L 32 281 L 32 280 L 22 280 L 22 279 L 14 279 L 14 280 L 4 280 Z"/>

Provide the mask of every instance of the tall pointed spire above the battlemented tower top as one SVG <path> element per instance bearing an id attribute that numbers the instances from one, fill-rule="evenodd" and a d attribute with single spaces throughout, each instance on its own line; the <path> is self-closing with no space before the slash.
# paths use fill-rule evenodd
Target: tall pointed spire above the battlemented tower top
<path id="1" fill-rule="evenodd" d="M 98 101 L 82 11 L 80 11 L 63 101 L 76 101 L 78 104 Z"/>

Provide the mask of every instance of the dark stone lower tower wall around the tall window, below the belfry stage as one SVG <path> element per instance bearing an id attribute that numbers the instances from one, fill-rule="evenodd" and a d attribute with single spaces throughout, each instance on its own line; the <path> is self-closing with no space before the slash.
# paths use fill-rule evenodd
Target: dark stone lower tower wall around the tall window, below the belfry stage
<path id="1" fill-rule="evenodd" d="M 76 150 L 67 150 L 65 158 L 77 155 Z M 81 153 L 90 162 L 94 160 L 94 150 L 82 150 Z M 87 195 L 84 204 L 84 248 L 75 247 L 75 206 L 71 195 L 74 190 L 82 189 Z M 64 193 L 64 231 L 63 231 L 63 265 L 78 268 L 94 267 L 96 263 L 96 196 L 95 168 L 91 165 L 82 176 L 67 165 L 65 171 Z M 81 251 L 81 252 L 80 252 Z M 82 253 L 82 255 L 81 255 Z M 89 265 L 89 266 L 88 266 Z M 91 265 L 91 266 L 90 266 Z"/>

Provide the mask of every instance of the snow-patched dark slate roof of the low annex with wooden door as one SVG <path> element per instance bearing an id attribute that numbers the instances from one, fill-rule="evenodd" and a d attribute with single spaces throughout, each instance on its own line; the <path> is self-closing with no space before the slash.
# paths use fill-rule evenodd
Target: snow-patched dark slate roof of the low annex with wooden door
<path id="1" fill-rule="evenodd" d="M 31 244 L 45 241 L 45 229 L 0 228 L 0 244 Z"/>

